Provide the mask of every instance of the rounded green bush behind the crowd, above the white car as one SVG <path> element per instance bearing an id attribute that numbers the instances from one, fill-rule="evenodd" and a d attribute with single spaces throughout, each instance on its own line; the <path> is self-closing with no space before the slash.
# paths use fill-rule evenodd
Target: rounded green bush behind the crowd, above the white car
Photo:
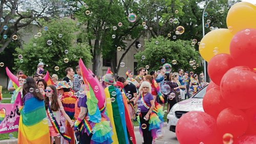
<path id="1" fill-rule="evenodd" d="M 159 44 L 155 42 L 158 41 Z M 195 51 L 195 48 L 191 46 L 190 41 L 177 40 L 170 41 L 162 36 L 151 38 L 150 41 L 145 41 L 145 50 L 140 51 L 135 55 L 135 58 L 138 60 L 138 68 L 145 67 L 146 65 L 150 66 L 148 71 L 158 70 L 162 59 L 165 59 L 165 63 L 172 64 L 173 60 L 177 61 L 176 65 L 172 64 L 173 71 L 178 71 L 179 68 L 182 68 L 185 71 L 194 71 L 200 73 L 202 67 L 197 67 L 196 70 L 189 65 L 189 61 L 196 60 L 197 64 L 200 65 L 202 60 L 199 57 L 198 51 Z M 141 56 L 145 56 L 145 60 L 141 60 Z"/>

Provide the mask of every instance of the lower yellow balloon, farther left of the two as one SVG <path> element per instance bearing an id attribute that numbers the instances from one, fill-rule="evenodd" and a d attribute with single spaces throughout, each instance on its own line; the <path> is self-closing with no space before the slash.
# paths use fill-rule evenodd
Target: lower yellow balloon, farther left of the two
<path id="1" fill-rule="evenodd" d="M 232 38 L 233 35 L 226 28 L 211 31 L 200 41 L 199 52 L 207 62 L 216 54 L 229 54 L 229 44 Z"/>

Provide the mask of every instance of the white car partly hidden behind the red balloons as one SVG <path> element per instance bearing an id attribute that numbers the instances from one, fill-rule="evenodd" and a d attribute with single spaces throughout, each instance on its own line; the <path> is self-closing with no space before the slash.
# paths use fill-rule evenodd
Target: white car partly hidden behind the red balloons
<path id="1" fill-rule="evenodd" d="M 193 97 L 186 99 L 184 101 L 176 103 L 167 114 L 167 126 L 170 131 L 175 132 L 176 124 L 180 117 L 189 112 L 189 111 L 204 111 L 203 109 L 203 97 L 206 92 L 206 87 L 201 89 L 198 93 L 196 93 Z"/>

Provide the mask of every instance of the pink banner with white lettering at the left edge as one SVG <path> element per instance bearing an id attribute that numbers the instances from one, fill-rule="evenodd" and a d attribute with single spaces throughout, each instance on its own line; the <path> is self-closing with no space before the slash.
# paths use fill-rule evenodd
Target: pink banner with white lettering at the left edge
<path id="1" fill-rule="evenodd" d="M 20 106 L 20 93 L 15 103 L 0 104 L 0 134 L 18 131 L 19 115 L 18 107 Z"/>

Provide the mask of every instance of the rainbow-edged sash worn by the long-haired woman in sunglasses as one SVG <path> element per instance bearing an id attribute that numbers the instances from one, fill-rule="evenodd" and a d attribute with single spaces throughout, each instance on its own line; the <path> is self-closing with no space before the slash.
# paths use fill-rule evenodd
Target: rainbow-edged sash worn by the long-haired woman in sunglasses
<path id="1" fill-rule="evenodd" d="M 51 113 L 51 114 L 50 114 Z M 55 132 L 61 134 L 61 136 L 65 139 L 65 140 L 68 140 L 69 142 L 71 141 L 71 137 L 66 134 L 66 133 L 61 133 L 60 130 L 59 130 L 59 124 L 58 122 L 56 121 L 54 115 L 53 115 L 53 112 L 50 108 L 50 105 L 48 106 L 48 109 L 47 109 L 47 115 L 48 115 L 48 118 L 50 118 L 50 121 L 51 121 L 51 124 L 52 124 L 52 127 L 54 128 Z M 51 115 L 51 116 L 50 116 Z M 61 123 L 60 123 L 60 126 Z"/>

